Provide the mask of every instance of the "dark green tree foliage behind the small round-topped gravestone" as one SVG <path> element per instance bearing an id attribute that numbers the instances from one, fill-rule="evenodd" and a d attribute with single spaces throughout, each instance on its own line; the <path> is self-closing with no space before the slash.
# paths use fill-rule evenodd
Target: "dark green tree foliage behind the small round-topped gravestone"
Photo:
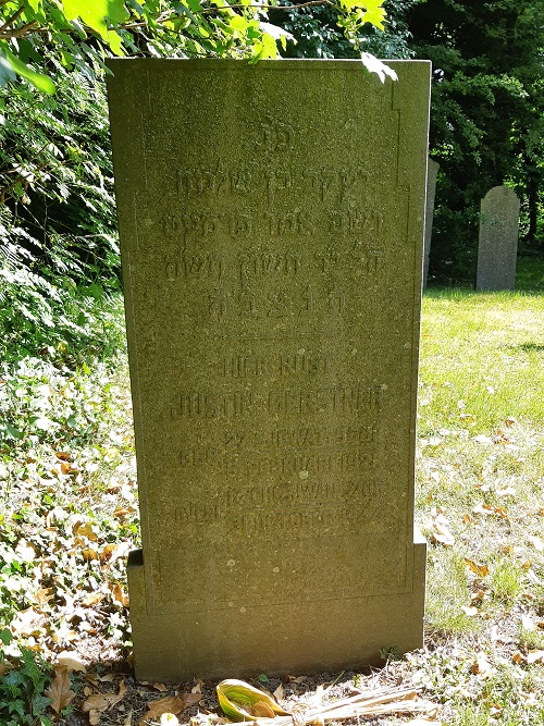
<path id="1" fill-rule="evenodd" d="M 508 184 L 534 246 L 544 182 L 544 4 L 429 0 L 409 20 L 417 57 L 433 62 L 430 147 L 441 164 L 431 274 L 474 273 L 480 199 Z M 542 244 L 544 239 L 541 238 Z"/>

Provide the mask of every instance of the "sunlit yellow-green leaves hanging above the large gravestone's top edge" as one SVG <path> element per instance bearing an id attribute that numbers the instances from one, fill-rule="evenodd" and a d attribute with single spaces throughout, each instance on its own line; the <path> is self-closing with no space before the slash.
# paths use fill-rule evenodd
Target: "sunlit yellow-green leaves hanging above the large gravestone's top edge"
<path id="1" fill-rule="evenodd" d="M 54 48 L 69 70 L 115 56 L 275 58 L 288 33 L 267 22 L 268 12 L 321 4 L 333 8 L 357 45 L 366 23 L 383 29 L 383 0 L 0 0 L 0 86 L 26 78 L 52 94 L 53 81 L 34 66 Z"/>

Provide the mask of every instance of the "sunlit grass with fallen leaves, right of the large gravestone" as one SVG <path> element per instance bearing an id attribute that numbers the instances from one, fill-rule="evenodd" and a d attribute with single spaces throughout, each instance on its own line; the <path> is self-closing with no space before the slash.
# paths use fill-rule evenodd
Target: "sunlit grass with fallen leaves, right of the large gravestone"
<path id="1" fill-rule="evenodd" d="M 526 290 L 423 299 L 428 636 L 409 663 L 454 726 L 544 724 L 544 664 L 527 663 L 544 648 L 544 275 L 534 261 L 518 272 Z M 449 546 L 434 540 L 437 521 Z M 489 673 L 474 665 L 481 652 Z"/>

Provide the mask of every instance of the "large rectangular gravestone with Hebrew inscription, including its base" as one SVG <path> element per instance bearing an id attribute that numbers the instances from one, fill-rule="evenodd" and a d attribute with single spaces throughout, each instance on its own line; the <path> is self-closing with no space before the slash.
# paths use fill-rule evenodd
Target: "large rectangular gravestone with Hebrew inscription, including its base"
<path id="1" fill-rule="evenodd" d="M 138 678 L 422 644 L 413 528 L 430 65 L 113 60 Z"/>

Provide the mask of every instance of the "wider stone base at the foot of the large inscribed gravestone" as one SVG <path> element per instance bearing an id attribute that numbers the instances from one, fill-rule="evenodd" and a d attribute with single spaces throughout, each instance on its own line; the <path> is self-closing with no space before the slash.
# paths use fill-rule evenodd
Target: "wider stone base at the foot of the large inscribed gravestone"
<path id="1" fill-rule="evenodd" d="M 136 678 L 184 681 L 358 669 L 423 644 L 426 544 L 415 537 L 411 592 L 314 603 L 148 612 L 141 550 L 128 557 Z"/>

